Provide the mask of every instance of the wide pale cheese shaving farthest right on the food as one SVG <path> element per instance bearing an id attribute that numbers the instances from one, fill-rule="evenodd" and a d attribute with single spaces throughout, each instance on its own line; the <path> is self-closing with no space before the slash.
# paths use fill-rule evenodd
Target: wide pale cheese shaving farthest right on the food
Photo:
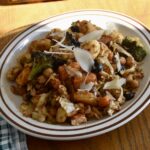
<path id="1" fill-rule="evenodd" d="M 106 82 L 103 89 L 120 89 L 123 84 L 126 83 L 125 78 L 119 79 L 119 76 L 116 76 L 114 80 Z"/>

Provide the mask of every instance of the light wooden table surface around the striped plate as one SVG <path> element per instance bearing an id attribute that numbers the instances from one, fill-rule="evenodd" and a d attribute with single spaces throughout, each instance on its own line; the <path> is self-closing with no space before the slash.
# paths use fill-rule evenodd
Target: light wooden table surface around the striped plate
<path id="1" fill-rule="evenodd" d="M 4 1 L 4 0 L 3 0 Z M 130 15 L 150 28 L 149 0 L 65 0 L 0 6 L 0 49 L 27 26 L 49 16 L 77 9 L 107 9 Z M 27 136 L 29 150 L 149 150 L 150 106 L 126 125 L 97 137 L 48 141 Z"/>

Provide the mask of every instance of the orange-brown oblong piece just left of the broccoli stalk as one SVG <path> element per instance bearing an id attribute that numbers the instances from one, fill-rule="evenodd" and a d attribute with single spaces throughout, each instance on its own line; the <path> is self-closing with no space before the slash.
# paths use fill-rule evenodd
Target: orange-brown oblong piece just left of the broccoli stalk
<path id="1" fill-rule="evenodd" d="M 25 85 L 28 81 L 28 76 L 30 74 L 30 71 L 31 71 L 31 68 L 25 67 L 21 71 L 21 73 L 17 76 L 16 83 L 21 86 Z"/>

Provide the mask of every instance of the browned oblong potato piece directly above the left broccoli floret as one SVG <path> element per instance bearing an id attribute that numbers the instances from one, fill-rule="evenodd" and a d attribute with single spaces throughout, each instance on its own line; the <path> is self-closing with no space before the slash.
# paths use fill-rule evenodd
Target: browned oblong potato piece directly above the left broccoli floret
<path id="1" fill-rule="evenodd" d="M 29 51 L 33 52 L 49 50 L 51 45 L 52 44 L 50 39 L 35 40 L 30 44 Z"/>

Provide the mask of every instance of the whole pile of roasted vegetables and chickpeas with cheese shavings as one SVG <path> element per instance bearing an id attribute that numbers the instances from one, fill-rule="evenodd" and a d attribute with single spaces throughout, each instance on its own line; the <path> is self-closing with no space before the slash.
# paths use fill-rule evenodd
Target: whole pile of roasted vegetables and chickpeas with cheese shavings
<path id="1" fill-rule="evenodd" d="M 134 100 L 145 56 L 137 37 L 82 20 L 31 41 L 7 79 L 12 92 L 23 98 L 24 116 L 80 125 L 111 116 Z"/>

